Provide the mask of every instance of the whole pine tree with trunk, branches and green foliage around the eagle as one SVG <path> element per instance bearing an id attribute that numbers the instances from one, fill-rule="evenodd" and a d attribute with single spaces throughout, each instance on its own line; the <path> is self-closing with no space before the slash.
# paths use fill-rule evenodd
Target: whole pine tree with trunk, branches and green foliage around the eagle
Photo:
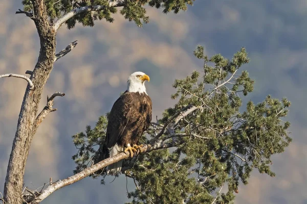
<path id="1" fill-rule="evenodd" d="M 46 185 L 40 191 L 23 192 L 24 174 L 31 142 L 40 123 L 55 111 L 53 101 L 64 93 L 55 92 L 47 98 L 47 105 L 38 112 L 42 90 L 54 62 L 67 55 L 77 45 L 74 41 L 56 54 L 56 34 L 65 24 L 73 29 L 76 23 L 93 27 L 97 20 L 114 22 L 118 12 L 138 27 L 149 22 L 145 6 L 162 8 L 163 12 L 178 13 L 193 5 L 194 0 L 23 0 L 26 14 L 36 25 L 40 40 L 37 63 L 26 77 L 3 74 L 28 81 L 17 123 L 8 164 L 3 202 L 8 204 L 39 203 L 54 191 L 75 183 L 86 176 L 105 176 L 104 167 L 124 159 L 122 172 L 136 183 L 129 192 L 130 203 L 228 203 L 238 192 L 239 181 L 247 184 L 253 168 L 274 176 L 270 170 L 271 156 L 288 146 L 291 138 L 287 115 L 290 102 L 268 96 L 264 102 L 247 104 L 239 112 L 240 97 L 253 90 L 248 73 L 238 69 L 248 63 L 246 50 L 227 60 L 221 55 L 208 58 L 203 47 L 194 55 L 204 61 L 202 73 L 192 72 L 173 84 L 171 95 L 177 103 L 165 110 L 163 118 L 153 122 L 142 137 L 144 154 L 127 159 L 124 152 L 98 161 L 96 144 L 104 142 L 107 114 L 94 127 L 73 136 L 78 152 L 73 156 L 77 166 L 75 175 Z M 116 23 L 116 22 L 114 22 Z M 95 164 L 94 164 L 95 163 Z M 227 193 L 221 193 L 223 186 Z"/>

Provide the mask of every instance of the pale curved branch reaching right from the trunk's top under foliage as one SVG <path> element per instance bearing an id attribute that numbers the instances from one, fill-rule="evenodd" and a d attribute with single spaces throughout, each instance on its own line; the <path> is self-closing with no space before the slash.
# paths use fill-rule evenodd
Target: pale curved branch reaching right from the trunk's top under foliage
<path id="1" fill-rule="evenodd" d="M 125 3 L 122 0 L 109 2 L 109 7 L 122 7 L 124 5 Z M 64 22 L 68 21 L 70 18 L 74 17 L 77 14 L 87 12 L 87 11 L 101 11 L 103 9 L 105 9 L 105 6 L 102 6 L 102 5 L 75 8 L 71 10 L 70 12 L 68 12 L 67 14 L 63 15 L 61 18 L 57 19 L 57 21 L 55 21 L 54 30 L 56 32 Z"/>

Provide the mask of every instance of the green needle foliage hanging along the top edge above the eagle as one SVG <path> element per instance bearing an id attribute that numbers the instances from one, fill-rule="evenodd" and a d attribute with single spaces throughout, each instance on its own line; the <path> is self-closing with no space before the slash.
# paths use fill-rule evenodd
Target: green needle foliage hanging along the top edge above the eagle
<path id="1" fill-rule="evenodd" d="M 78 2 L 76 4 L 76 2 Z M 117 12 L 117 8 L 110 7 L 109 3 L 114 2 L 113 0 L 46 0 L 46 7 L 48 16 L 54 20 L 61 17 L 63 14 L 70 12 L 73 9 L 80 7 L 89 6 L 94 8 L 95 6 L 101 6 L 101 11 L 87 11 L 75 15 L 70 18 L 67 22 L 68 29 L 75 27 L 76 22 L 82 23 L 83 26 L 94 26 L 95 20 L 105 19 L 108 22 L 113 22 L 114 18 L 112 14 Z M 146 4 L 150 7 L 163 8 L 164 13 L 173 11 L 178 13 L 180 10 L 187 10 L 187 5 L 193 5 L 194 0 L 125 0 L 123 1 L 124 6 L 120 11 L 126 19 L 134 21 L 139 27 L 142 27 L 143 23 L 149 22 L 149 17 L 146 16 Z M 23 0 L 24 10 L 32 11 L 32 2 L 30 0 Z"/>

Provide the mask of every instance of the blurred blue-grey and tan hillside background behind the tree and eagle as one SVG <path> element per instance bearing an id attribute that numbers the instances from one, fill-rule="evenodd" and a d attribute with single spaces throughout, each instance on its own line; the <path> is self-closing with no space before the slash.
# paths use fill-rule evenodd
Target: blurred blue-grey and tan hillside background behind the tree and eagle
<path id="1" fill-rule="evenodd" d="M 21 1 L 0 1 L 0 74 L 24 74 L 32 70 L 39 53 L 39 38 L 33 21 L 23 14 Z M 139 28 L 120 14 L 115 22 L 97 21 L 94 28 L 68 30 L 57 35 L 57 52 L 70 42 L 78 45 L 55 62 L 44 89 L 40 110 L 47 95 L 64 92 L 55 99 L 54 108 L 40 125 L 28 158 L 25 186 L 38 188 L 43 183 L 73 174 L 75 154 L 71 136 L 95 125 L 98 117 L 111 110 L 119 93 L 126 90 L 126 79 L 134 71 L 150 77 L 146 84 L 153 102 L 153 118 L 172 106 L 170 95 L 174 79 L 203 62 L 193 57 L 196 45 L 205 47 L 208 56 L 221 53 L 231 58 L 245 46 L 248 70 L 255 80 L 254 92 L 244 103 L 262 101 L 266 95 L 288 97 L 292 102 L 288 120 L 293 142 L 274 156 L 276 177 L 252 173 L 247 186 L 239 186 L 236 203 L 307 203 L 307 1 L 297 0 L 196 0 L 180 14 L 162 13 L 148 8 L 150 22 Z M 3 192 L 8 159 L 26 81 L 0 79 L 0 192 Z M 100 180 L 86 178 L 53 193 L 42 203 L 124 203 L 126 178 Z M 134 190 L 128 179 L 128 190 Z"/>

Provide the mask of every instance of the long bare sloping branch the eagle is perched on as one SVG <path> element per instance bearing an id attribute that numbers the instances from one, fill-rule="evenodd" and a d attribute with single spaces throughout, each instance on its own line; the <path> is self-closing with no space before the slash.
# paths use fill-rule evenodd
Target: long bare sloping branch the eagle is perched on
<path id="1" fill-rule="evenodd" d="M 145 152 L 149 152 L 149 151 L 152 151 L 152 150 L 169 148 L 169 147 L 172 147 L 172 144 L 157 142 L 157 143 L 154 143 L 153 145 L 144 145 L 142 150 L 143 150 L 143 153 L 145 153 Z M 96 171 L 98 171 L 98 170 L 100 170 L 100 169 L 102 169 L 102 168 L 104 168 L 104 167 L 106 167 L 110 164 L 114 164 L 114 163 L 116 163 L 120 160 L 126 159 L 128 157 L 129 157 L 129 154 L 126 154 L 125 152 L 121 152 L 120 154 L 118 154 L 114 157 L 110 157 L 110 158 L 107 158 L 103 161 L 100 161 L 100 162 L 92 165 L 91 167 L 88 167 L 88 168 L 84 169 L 83 171 L 68 177 L 67 179 L 59 180 L 59 181 L 53 183 L 52 185 L 47 187 L 45 190 L 43 190 L 43 192 L 41 192 L 40 195 L 37 196 L 35 200 L 28 200 L 28 202 L 31 203 L 31 204 L 38 204 L 39 202 L 41 202 L 43 199 L 47 198 L 49 195 L 51 195 L 56 190 L 63 188 L 65 186 L 71 185 L 73 183 L 76 183 L 76 182 L 80 181 L 81 179 L 84 179 L 85 177 L 95 173 Z"/>

